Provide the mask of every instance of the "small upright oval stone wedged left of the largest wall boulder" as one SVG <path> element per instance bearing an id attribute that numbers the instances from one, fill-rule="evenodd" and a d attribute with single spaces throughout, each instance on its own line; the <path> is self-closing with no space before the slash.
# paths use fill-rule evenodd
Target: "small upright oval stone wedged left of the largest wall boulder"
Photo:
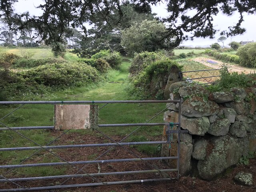
<path id="1" fill-rule="evenodd" d="M 206 156 L 208 142 L 204 139 L 198 140 L 194 144 L 192 157 L 197 160 L 203 160 Z"/>

